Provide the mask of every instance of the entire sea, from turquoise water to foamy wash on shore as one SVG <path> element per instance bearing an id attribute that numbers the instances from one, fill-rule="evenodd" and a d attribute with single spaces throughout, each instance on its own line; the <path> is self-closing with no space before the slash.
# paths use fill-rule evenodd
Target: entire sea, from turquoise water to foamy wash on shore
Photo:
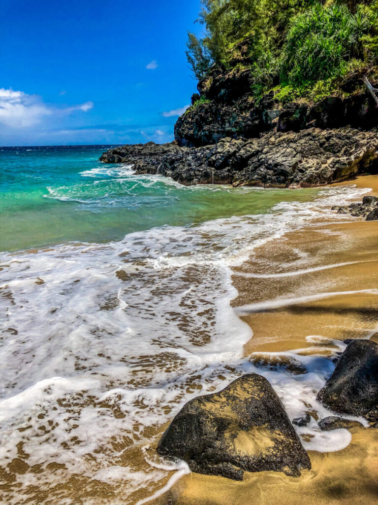
<path id="1" fill-rule="evenodd" d="M 287 231 L 341 219 L 331 206 L 364 191 L 185 187 L 100 163 L 108 147 L 0 148 L 9 505 L 141 504 L 187 473 L 156 455 L 162 431 L 187 400 L 256 370 L 243 355 L 253 332 L 230 305 L 232 268 Z M 295 417 L 293 398 L 313 401 L 306 381 L 321 387 L 332 367 L 263 374 Z M 336 431 L 303 444 L 346 446 Z"/>

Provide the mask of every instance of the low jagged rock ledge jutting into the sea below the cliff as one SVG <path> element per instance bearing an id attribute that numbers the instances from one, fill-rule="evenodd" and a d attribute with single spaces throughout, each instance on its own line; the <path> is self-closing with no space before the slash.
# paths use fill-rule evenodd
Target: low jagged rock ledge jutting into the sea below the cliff
<path id="1" fill-rule="evenodd" d="M 135 148 L 135 155 L 133 149 Z M 270 132 L 259 139 L 221 139 L 215 145 L 137 144 L 100 158 L 135 163 L 138 174 L 161 174 L 185 185 L 318 186 L 378 170 L 378 136 L 352 128 Z"/>

